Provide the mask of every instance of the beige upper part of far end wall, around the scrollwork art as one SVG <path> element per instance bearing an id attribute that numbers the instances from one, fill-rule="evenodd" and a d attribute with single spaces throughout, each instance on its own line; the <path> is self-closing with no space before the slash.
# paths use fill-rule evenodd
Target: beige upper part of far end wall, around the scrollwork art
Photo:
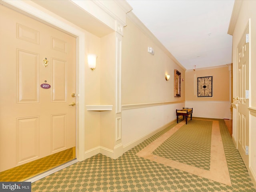
<path id="1" fill-rule="evenodd" d="M 212 76 L 213 97 L 197 97 L 197 78 Z M 228 66 L 186 71 L 186 101 L 229 101 L 230 71 Z"/>

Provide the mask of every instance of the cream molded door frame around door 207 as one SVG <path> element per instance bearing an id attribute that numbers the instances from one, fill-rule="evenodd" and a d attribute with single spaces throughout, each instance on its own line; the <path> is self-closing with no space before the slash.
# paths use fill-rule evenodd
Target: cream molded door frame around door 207
<path id="1" fill-rule="evenodd" d="M 84 115 L 85 115 L 85 88 L 84 84 L 79 82 L 85 81 L 85 34 L 79 28 L 74 28 L 68 23 L 63 22 L 57 16 L 44 12 L 35 6 L 23 1 L 1 0 L 1 4 L 16 10 L 22 14 L 30 16 L 53 28 L 64 31 L 76 38 L 76 159 L 84 160 Z"/>

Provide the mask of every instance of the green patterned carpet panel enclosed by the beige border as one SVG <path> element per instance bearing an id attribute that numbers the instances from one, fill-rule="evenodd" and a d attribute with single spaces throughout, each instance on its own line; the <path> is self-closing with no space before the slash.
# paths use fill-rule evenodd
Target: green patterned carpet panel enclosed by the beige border
<path id="1" fill-rule="evenodd" d="M 167 138 L 152 154 L 210 170 L 211 136 L 212 121 L 193 119 Z"/>

